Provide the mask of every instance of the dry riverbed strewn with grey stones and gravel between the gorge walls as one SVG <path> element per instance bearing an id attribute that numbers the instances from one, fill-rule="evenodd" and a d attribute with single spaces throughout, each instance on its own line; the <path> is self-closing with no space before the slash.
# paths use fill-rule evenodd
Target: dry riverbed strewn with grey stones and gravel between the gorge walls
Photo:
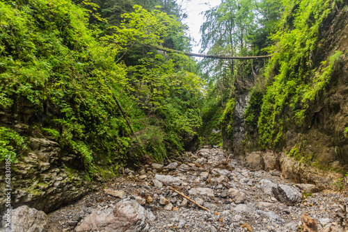
<path id="1" fill-rule="evenodd" d="M 166 166 L 125 169 L 47 216 L 17 208 L 13 217 L 22 221 L 13 228 L 30 222 L 32 231 L 54 232 L 346 231 L 347 201 L 340 192 L 291 183 L 276 170 L 246 169 L 221 149 L 201 149 Z M 37 216 L 25 219 L 29 214 Z"/>

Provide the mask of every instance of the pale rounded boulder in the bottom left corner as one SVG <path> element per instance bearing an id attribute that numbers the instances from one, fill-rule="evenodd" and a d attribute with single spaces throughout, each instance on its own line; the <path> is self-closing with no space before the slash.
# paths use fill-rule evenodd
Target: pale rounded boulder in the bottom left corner
<path id="1" fill-rule="evenodd" d="M 6 222 L 6 215 L 3 216 Z M 47 215 L 35 208 L 28 206 L 19 206 L 12 210 L 11 231 L 46 231 Z"/>

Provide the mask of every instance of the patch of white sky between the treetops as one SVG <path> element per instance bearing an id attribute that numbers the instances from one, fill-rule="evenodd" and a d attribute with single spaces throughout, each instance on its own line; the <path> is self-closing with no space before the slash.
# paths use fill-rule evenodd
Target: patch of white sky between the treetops
<path id="1" fill-rule="evenodd" d="M 184 19 L 184 24 L 189 26 L 189 34 L 195 40 L 193 43 L 192 52 L 198 53 L 200 49 L 200 26 L 204 22 L 202 12 L 209 10 L 214 6 L 218 6 L 221 0 L 184 0 L 182 8 L 186 10 L 187 19 Z"/>

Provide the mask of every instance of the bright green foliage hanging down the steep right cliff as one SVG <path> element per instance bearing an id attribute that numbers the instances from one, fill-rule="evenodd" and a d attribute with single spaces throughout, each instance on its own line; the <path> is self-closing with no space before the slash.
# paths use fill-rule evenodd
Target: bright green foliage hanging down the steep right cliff
<path id="1" fill-rule="evenodd" d="M 285 8 L 283 29 L 272 36 L 276 44 L 269 49 L 274 53 L 271 69 L 279 70 L 262 99 L 258 121 L 260 144 L 263 148 L 280 147 L 285 130 L 285 110 L 290 106 L 293 119 L 303 126 L 306 112 L 330 81 L 330 76 L 341 52 L 327 58 L 328 62 L 314 64 L 312 54 L 318 30 L 325 17 L 331 13 L 331 1 L 290 1 Z"/>

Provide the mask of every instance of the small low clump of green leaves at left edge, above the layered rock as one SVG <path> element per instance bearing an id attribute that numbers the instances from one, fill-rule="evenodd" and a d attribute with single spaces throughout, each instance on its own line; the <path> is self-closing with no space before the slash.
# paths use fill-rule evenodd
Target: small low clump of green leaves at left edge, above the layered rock
<path id="1" fill-rule="evenodd" d="M 17 162 L 18 151 L 26 150 L 26 140 L 17 132 L 0 126 L 0 161 L 10 158 L 11 162 Z"/>

